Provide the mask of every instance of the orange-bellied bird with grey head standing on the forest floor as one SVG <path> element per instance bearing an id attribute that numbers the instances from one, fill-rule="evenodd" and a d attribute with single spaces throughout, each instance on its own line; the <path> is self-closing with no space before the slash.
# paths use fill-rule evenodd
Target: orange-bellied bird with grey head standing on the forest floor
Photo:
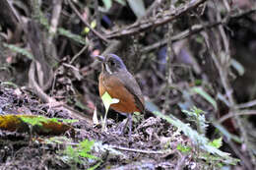
<path id="1" fill-rule="evenodd" d="M 101 62 L 101 72 L 98 77 L 99 95 L 102 96 L 107 91 L 112 98 L 119 99 L 119 102 L 111 104 L 110 108 L 127 114 L 128 119 L 123 130 L 129 122 L 129 139 L 131 139 L 132 114 L 145 111 L 142 90 L 119 56 L 107 54 L 97 55 L 96 58 Z M 124 134 L 123 130 L 122 134 Z"/>

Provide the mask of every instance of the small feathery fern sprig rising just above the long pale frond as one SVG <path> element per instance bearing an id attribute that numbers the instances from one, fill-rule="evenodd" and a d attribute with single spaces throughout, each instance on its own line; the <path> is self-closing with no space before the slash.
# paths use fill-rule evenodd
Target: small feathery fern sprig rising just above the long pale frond
<path id="1" fill-rule="evenodd" d="M 182 112 L 188 116 L 189 121 L 196 123 L 197 131 L 200 134 L 205 134 L 208 125 L 203 110 L 193 107 L 191 111 L 182 110 Z"/>

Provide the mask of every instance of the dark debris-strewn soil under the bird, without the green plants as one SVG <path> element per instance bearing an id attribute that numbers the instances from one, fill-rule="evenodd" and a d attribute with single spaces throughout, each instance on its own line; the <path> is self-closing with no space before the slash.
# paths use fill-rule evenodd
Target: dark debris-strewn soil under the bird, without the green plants
<path id="1" fill-rule="evenodd" d="M 28 89 L 3 85 L 0 108 L 1 115 L 41 115 L 43 112 L 49 118 L 73 119 L 65 111 L 40 103 Z M 127 133 L 119 135 L 123 122 L 108 119 L 107 131 L 101 131 L 100 125 L 94 126 L 80 120 L 72 124 L 75 133 L 70 130 L 55 137 L 0 131 L 0 169 L 86 169 L 98 162 L 97 169 L 175 169 L 178 165 L 192 169 L 195 164 L 192 155 L 181 155 L 175 149 L 177 143 L 189 143 L 188 139 L 166 121 L 156 117 L 134 121 L 130 140 Z M 62 142 L 49 142 L 52 139 Z M 86 139 L 95 141 L 91 154 L 99 157 L 100 161 L 87 158 L 81 158 L 81 162 L 67 160 L 63 152 L 65 147 Z"/>

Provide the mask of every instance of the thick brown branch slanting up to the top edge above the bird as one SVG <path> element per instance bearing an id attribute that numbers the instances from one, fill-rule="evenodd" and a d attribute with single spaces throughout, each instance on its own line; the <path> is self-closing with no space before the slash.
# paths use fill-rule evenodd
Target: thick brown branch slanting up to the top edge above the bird
<path id="1" fill-rule="evenodd" d="M 140 22 L 136 22 L 135 24 L 128 26 L 123 29 L 118 29 L 110 32 L 109 34 L 106 34 L 105 37 L 107 38 L 116 38 L 121 36 L 127 36 L 132 35 L 136 33 L 140 33 L 143 30 L 149 29 L 149 28 L 156 28 L 161 25 L 164 25 L 166 23 L 169 23 L 177 18 L 179 18 L 181 15 L 184 15 L 188 11 L 198 7 L 200 4 L 206 2 L 207 0 L 194 0 L 194 1 L 188 1 L 187 4 L 177 8 L 174 11 L 165 12 L 160 15 L 157 15 L 155 19 L 148 19 L 143 20 Z"/>

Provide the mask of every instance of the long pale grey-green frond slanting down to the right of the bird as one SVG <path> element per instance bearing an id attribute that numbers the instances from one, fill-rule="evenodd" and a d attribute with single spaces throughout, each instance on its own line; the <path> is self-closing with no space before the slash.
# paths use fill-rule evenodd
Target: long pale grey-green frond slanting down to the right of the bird
<path id="1" fill-rule="evenodd" d="M 184 135 L 187 136 L 191 140 L 191 142 L 196 144 L 199 148 L 205 150 L 208 153 L 214 154 L 214 157 L 218 159 L 218 161 L 223 162 L 225 164 L 236 164 L 239 161 L 238 159 L 230 157 L 229 153 L 224 152 L 219 148 L 216 148 L 215 146 L 209 144 L 209 140 L 204 135 L 200 135 L 198 132 L 196 132 L 187 124 L 184 124 L 174 116 L 166 116 L 160 112 L 154 112 L 154 114 L 166 120 L 168 123 L 178 128 L 178 130 L 182 131 Z"/>

